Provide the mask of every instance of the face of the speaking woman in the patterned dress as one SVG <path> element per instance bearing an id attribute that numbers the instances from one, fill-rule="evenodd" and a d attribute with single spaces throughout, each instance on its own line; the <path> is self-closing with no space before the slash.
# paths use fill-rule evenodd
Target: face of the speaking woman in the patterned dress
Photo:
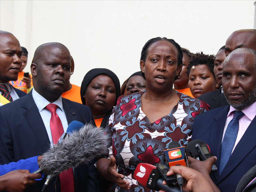
<path id="1" fill-rule="evenodd" d="M 181 65 L 177 66 L 177 61 L 178 50 L 172 43 L 161 40 L 151 44 L 147 49 L 145 61 L 140 60 L 147 90 L 170 90 L 175 76 L 181 70 Z"/>

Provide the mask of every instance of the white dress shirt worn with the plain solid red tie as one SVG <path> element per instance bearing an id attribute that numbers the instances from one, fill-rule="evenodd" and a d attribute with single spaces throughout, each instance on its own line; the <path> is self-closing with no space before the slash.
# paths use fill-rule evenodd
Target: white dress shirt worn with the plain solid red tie
<path id="1" fill-rule="evenodd" d="M 33 96 L 34 102 L 38 108 L 38 111 L 42 117 L 43 124 L 46 128 L 46 131 L 47 131 L 47 134 L 48 134 L 48 137 L 50 140 L 50 145 L 52 146 L 53 140 L 52 140 L 51 130 L 50 130 L 51 113 L 50 113 L 50 111 L 48 111 L 45 108 L 45 106 L 47 106 L 50 102 L 48 100 L 46 100 L 43 96 L 41 96 L 38 92 L 36 92 L 34 90 L 34 88 L 32 89 L 32 96 Z M 67 123 L 65 111 L 64 111 L 64 108 L 62 105 L 62 97 L 61 96 L 58 97 L 58 99 L 52 103 L 57 105 L 56 113 L 58 114 L 58 116 L 61 120 L 64 132 L 66 132 L 68 123 Z"/>

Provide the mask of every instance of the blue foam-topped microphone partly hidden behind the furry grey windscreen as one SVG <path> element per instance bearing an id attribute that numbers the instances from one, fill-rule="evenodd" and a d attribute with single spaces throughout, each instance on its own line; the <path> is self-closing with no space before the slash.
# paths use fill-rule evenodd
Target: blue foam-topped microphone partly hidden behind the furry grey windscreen
<path id="1" fill-rule="evenodd" d="M 71 134 L 74 130 L 79 130 L 82 126 L 84 126 L 84 124 L 77 120 L 73 120 L 72 122 L 70 122 L 66 129 L 66 132 L 63 132 L 63 134 L 58 139 L 58 143 L 60 143 L 66 137 L 67 134 Z M 46 190 L 46 188 L 50 184 L 50 181 L 53 179 L 53 177 L 54 177 L 53 174 L 47 175 L 45 182 L 42 186 L 41 192 L 44 192 Z"/>

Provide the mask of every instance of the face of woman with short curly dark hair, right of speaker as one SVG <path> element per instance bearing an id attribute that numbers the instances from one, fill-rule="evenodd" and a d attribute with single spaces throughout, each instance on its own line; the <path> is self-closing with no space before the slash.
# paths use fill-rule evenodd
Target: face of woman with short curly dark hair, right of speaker
<path id="1" fill-rule="evenodd" d="M 215 85 L 216 80 L 206 64 L 198 64 L 190 69 L 188 86 L 195 98 L 216 90 Z"/>

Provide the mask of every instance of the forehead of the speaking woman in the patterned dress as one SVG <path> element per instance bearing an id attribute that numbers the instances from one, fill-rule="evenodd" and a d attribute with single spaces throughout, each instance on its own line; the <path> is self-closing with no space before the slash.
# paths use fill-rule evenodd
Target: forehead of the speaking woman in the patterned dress
<path id="1" fill-rule="evenodd" d="M 147 55 L 159 54 L 159 55 L 175 55 L 177 56 L 177 48 L 166 40 L 160 40 L 152 43 L 147 49 Z"/>

